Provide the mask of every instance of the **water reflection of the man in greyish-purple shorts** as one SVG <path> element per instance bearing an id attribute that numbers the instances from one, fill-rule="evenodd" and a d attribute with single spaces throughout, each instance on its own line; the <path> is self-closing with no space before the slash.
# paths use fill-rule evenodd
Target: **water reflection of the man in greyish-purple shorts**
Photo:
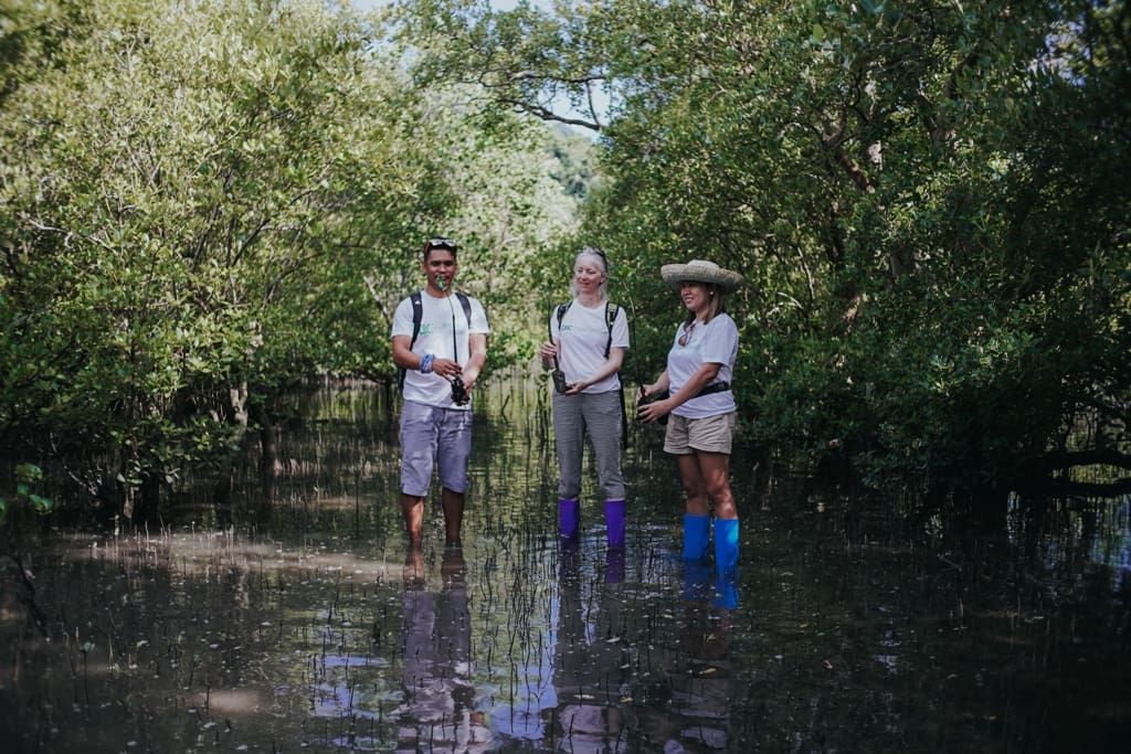
<path id="1" fill-rule="evenodd" d="M 405 703 L 398 752 L 485 752 L 491 731 L 475 709 L 472 683 L 472 616 L 463 551 L 448 547 L 442 587 L 428 590 L 423 555 L 409 547 L 405 561 Z"/>

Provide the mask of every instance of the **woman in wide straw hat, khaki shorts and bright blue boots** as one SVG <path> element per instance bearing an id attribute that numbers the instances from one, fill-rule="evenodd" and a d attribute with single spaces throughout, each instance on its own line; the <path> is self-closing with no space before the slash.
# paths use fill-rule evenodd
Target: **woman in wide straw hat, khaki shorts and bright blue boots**
<path id="1" fill-rule="evenodd" d="M 671 415 L 664 451 L 676 457 L 687 494 L 682 557 L 707 560 L 714 529 L 715 569 L 728 574 L 739 561 L 739 511 L 729 482 L 739 328 L 723 298 L 742 284 L 742 276 L 701 259 L 665 265 L 661 275 L 680 292 L 688 314 L 675 331 L 667 369 L 640 388 L 638 415 L 646 423 Z"/>

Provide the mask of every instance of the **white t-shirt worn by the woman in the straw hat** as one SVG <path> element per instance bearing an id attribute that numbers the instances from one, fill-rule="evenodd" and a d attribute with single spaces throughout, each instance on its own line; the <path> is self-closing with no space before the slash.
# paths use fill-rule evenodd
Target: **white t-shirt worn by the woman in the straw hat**
<path id="1" fill-rule="evenodd" d="M 684 346 L 680 345 L 683 324 L 675 330 L 672 349 L 667 352 L 667 382 L 674 393 L 703 364 L 718 364 L 718 374 L 711 382 L 729 382 L 734 375 L 734 361 L 739 356 L 739 327 L 725 312 L 714 317 L 706 326 L 696 322 Z M 707 385 L 703 385 L 707 387 Z M 701 419 L 736 410 L 734 392 L 724 390 L 709 396 L 692 398 L 672 413 L 689 419 Z"/>

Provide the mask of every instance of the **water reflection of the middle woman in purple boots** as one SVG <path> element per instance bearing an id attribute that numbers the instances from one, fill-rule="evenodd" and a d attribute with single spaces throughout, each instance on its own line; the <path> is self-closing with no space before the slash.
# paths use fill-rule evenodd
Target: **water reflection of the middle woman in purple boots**
<path id="1" fill-rule="evenodd" d="M 563 752 L 628 749 L 627 700 L 631 664 L 622 641 L 621 577 L 614 562 L 604 578 L 586 582 L 578 552 L 562 548 L 558 635 L 554 645 L 556 704 L 547 711 L 551 743 Z M 599 582 L 599 586 L 598 586 Z M 594 606 L 586 588 L 599 589 Z"/>

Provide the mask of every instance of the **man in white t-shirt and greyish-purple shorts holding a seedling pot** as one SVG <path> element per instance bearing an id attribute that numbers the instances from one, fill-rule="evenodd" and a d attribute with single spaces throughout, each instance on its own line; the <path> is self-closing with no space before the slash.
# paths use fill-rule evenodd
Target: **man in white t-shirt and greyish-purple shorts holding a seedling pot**
<path id="1" fill-rule="evenodd" d="M 409 544 L 423 534 L 424 499 L 438 467 L 444 541 L 460 544 L 467 459 L 472 452 L 470 393 L 487 356 L 487 317 L 478 301 L 455 292 L 456 243 L 424 243 L 424 291 L 392 317 L 392 361 L 405 370 L 400 413 L 400 508 Z"/>

